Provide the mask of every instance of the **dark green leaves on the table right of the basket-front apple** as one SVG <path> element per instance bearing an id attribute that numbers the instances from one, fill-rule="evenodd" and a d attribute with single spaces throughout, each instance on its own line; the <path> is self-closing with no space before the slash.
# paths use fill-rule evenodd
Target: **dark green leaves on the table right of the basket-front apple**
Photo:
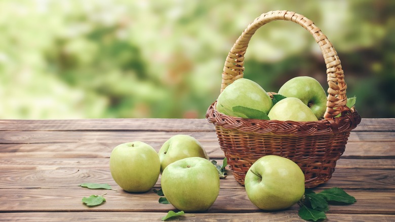
<path id="1" fill-rule="evenodd" d="M 299 216 L 305 220 L 317 221 L 325 219 L 329 210 L 329 203 L 353 204 L 355 198 L 347 194 L 341 188 L 331 188 L 320 193 L 305 189 L 304 197 L 298 202 L 300 205 Z"/>

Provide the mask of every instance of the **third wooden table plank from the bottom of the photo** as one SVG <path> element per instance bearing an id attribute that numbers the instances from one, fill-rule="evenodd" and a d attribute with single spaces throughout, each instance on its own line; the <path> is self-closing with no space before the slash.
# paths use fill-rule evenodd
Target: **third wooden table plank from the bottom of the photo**
<path id="1" fill-rule="evenodd" d="M 10 166 L 0 166 L 0 187 L 3 189 L 19 188 L 57 188 L 76 187 L 84 182 L 97 182 L 115 184 L 113 181 L 108 160 L 103 165 L 94 165 L 92 168 L 74 166 L 44 165 L 35 169 L 10 169 Z M 392 162 L 393 164 L 393 162 Z M 240 188 L 239 183 L 227 171 L 227 178 L 221 180 L 221 187 Z M 395 189 L 392 178 L 395 171 L 392 169 L 350 169 L 337 168 L 332 178 L 321 187 L 352 188 L 352 189 Z M 156 183 L 160 187 L 160 179 Z"/>

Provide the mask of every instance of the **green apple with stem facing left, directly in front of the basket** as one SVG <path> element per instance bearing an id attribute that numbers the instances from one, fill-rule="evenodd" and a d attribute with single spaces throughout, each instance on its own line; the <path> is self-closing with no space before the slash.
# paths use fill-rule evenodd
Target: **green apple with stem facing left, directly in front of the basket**
<path id="1" fill-rule="evenodd" d="M 304 174 L 284 157 L 268 155 L 247 171 L 245 188 L 251 202 L 262 210 L 282 210 L 297 203 L 304 194 Z"/>

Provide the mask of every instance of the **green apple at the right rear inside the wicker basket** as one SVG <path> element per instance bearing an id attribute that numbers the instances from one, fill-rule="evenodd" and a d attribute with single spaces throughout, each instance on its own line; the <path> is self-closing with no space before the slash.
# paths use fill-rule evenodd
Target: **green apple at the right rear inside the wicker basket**
<path id="1" fill-rule="evenodd" d="M 324 116 L 327 108 L 327 95 L 321 84 L 311 77 L 295 77 L 279 90 L 285 97 L 296 97 L 307 105 L 317 119 Z"/>

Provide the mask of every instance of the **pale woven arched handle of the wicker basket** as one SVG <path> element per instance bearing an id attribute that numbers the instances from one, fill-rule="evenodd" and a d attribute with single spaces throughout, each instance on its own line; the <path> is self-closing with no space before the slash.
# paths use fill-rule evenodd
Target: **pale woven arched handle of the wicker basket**
<path id="1" fill-rule="evenodd" d="M 290 11 L 270 11 L 260 15 L 256 18 L 240 35 L 239 39 L 236 40 L 232 49 L 230 50 L 222 72 L 222 84 L 221 92 L 233 81 L 243 78 L 244 71 L 244 54 L 246 53 L 248 44 L 251 40 L 252 35 L 262 25 L 269 23 L 274 20 L 286 20 L 293 21 L 303 28 L 308 30 L 315 39 L 315 42 L 320 46 L 321 52 L 324 56 L 325 63 L 327 66 L 327 82 L 328 82 L 328 97 L 327 97 L 327 109 L 324 114 L 325 119 L 330 119 L 338 114 L 349 110 L 346 106 L 347 96 L 346 89 L 347 85 L 344 82 L 344 73 L 341 68 L 340 59 L 337 56 L 337 52 L 333 48 L 331 42 L 327 39 L 327 36 L 321 32 L 321 29 L 315 26 L 315 24 L 304 17 L 303 15 L 297 14 Z"/>

